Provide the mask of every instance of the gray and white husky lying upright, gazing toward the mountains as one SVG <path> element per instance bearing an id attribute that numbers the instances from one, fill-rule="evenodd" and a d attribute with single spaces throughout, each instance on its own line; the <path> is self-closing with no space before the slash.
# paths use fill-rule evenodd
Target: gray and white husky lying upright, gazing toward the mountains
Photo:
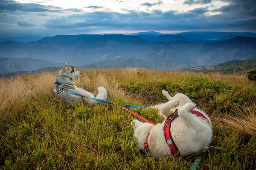
<path id="1" fill-rule="evenodd" d="M 64 65 L 61 70 L 59 71 L 59 75 L 55 77 L 54 84 L 57 85 L 57 89 L 61 89 L 62 91 L 69 91 L 72 93 L 77 93 L 81 94 L 86 97 L 91 97 L 94 98 L 94 94 L 82 89 L 76 87 L 74 79 L 75 77 L 79 77 L 81 75 L 80 71 L 76 71 L 76 69 L 71 66 L 71 63 L 68 61 L 66 65 Z M 98 94 L 96 96 L 96 99 L 102 99 L 106 100 L 108 96 L 108 92 L 104 87 L 99 87 L 98 88 Z M 53 93 L 55 96 L 59 97 L 62 99 L 63 102 L 66 104 L 70 102 L 87 102 L 87 103 L 94 103 L 96 102 L 95 100 L 88 99 L 86 97 L 80 97 L 80 96 L 75 96 L 73 94 L 68 94 L 64 92 L 58 92 L 56 88 L 53 89 Z"/>

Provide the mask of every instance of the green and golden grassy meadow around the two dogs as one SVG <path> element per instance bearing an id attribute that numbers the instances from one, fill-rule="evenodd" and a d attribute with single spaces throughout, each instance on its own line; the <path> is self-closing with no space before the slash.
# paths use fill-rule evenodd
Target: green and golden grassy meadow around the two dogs
<path id="1" fill-rule="evenodd" d="M 139 151 L 130 113 L 114 105 L 64 105 L 55 73 L 0 79 L 0 169 L 189 169 L 197 155 L 162 158 Z M 108 101 L 150 106 L 188 95 L 211 116 L 213 139 L 199 169 L 256 169 L 256 84 L 245 76 L 138 68 L 83 70 L 76 85 Z M 133 111 L 160 123 L 154 109 Z"/>

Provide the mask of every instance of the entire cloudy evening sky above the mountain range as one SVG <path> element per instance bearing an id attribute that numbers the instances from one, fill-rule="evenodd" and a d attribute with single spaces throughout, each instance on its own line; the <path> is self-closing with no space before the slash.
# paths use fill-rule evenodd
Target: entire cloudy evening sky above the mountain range
<path id="1" fill-rule="evenodd" d="M 0 38 L 139 31 L 256 32 L 256 0 L 0 0 Z"/>

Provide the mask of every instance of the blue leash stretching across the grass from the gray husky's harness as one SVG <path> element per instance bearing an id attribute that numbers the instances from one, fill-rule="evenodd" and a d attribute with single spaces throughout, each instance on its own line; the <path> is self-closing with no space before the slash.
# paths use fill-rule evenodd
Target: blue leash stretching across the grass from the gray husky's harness
<path id="1" fill-rule="evenodd" d="M 92 98 L 92 97 L 87 97 L 87 96 L 83 96 L 81 94 L 70 92 L 70 91 L 63 91 L 58 86 L 59 86 L 59 84 L 57 84 L 56 88 L 55 88 L 56 91 L 58 92 L 58 94 L 61 93 L 61 92 L 64 92 L 64 93 L 72 94 L 72 95 L 75 95 L 75 96 L 86 97 L 88 99 L 92 99 L 92 100 L 95 100 L 97 102 L 107 103 L 107 104 L 110 104 L 110 105 L 117 105 L 116 103 L 108 102 L 108 101 L 105 101 L 105 100 L 102 100 L 102 99 L 96 99 L 96 98 Z M 141 109 L 147 109 L 148 110 L 148 108 L 145 108 L 145 107 L 142 107 L 142 106 L 136 106 L 136 105 L 121 105 L 121 106 L 123 106 L 125 108 L 141 108 Z"/>

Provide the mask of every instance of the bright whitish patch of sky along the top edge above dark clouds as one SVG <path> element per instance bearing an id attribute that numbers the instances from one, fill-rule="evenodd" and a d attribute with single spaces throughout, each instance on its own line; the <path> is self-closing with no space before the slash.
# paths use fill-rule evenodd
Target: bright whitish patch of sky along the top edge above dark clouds
<path id="1" fill-rule="evenodd" d="M 195 8 L 201 8 L 208 6 L 209 9 L 220 8 L 221 6 L 228 5 L 229 3 L 220 0 L 213 0 L 211 5 L 209 4 L 193 4 L 192 6 L 184 5 L 184 0 L 161 0 L 162 3 L 156 4 L 159 0 L 17 0 L 20 3 L 38 3 L 41 5 L 59 6 L 61 8 L 77 8 L 84 11 L 117 11 L 126 12 L 123 9 L 135 10 L 135 11 L 148 11 L 154 9 L 160 9 L 162 11 L 174 10 L 178 12 L 186 12 Z M 152 6 L 142 5 L 143 3 L 151 3 Z M 98 6 L 102 8 L 87 8 Z"/>

